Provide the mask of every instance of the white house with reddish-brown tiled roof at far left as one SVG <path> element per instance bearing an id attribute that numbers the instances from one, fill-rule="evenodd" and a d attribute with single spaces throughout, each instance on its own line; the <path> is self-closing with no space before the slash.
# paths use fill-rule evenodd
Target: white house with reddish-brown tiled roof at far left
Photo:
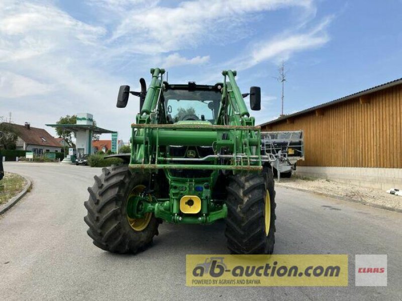
<path id="1" fill-rule="evenodd" d="M 16 149 L 28 150 L 39 156 L 49 152 L 61 152 L 60 143 L 45 129 L 32 127 L 28 122 L 25 122 L 25 125 L 10 123 L 9 126 L 18 135 Z"/>

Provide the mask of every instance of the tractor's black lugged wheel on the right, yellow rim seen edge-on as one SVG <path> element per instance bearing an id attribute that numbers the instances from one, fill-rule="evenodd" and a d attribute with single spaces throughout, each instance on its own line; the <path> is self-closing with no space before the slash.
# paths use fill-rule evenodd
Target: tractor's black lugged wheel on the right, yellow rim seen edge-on
<path id="1" fill-rule="evenodd" d="M 275 190 L 272 171 L 231 176 L 225 235 L 234 254 L 272 254 Z"/>

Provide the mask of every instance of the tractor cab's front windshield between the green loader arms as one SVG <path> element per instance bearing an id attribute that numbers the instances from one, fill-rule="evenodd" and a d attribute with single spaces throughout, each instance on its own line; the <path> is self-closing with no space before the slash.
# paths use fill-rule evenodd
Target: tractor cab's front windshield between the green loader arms
<path id="1" fill-rule="evenodd" d="M 221 95 L 219 91 L 167 90 L 164 93 L 166 112 L 173 122 L 203 120 L 214 123 Z"/>

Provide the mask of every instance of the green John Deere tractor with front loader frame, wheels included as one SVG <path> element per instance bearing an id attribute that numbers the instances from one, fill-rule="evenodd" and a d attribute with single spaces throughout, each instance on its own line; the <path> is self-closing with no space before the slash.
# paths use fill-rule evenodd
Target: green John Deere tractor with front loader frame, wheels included
<path id="1" fill-rule="evenodd" d="M 260 109 L 260 88 L 242 94 L 236 71 L 215 85 L 170 84 L 151 69 L 147 90 L 121 86 L 117 107 L 140 100 L 131 124 L 131 154 L 104 168 L 88 188 L 84 220 L 93 243 L 110 252 L 146 248 L 163 221 L 212 224 L 225 219 L 234 254 L 270 254 L 274 247 L 275 191 L 270 158 L 262 156 L 260 127 L 247 110 Z"/>

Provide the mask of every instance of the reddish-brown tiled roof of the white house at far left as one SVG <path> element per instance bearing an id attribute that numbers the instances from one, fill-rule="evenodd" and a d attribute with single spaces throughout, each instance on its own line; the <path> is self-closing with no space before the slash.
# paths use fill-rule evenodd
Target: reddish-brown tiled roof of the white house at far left
<path id="1" fill-rule="evenodd" d="M 20 124 L 9 124 L 26 144 L 61 147 L 60 143 L 45 129 Z"/>

